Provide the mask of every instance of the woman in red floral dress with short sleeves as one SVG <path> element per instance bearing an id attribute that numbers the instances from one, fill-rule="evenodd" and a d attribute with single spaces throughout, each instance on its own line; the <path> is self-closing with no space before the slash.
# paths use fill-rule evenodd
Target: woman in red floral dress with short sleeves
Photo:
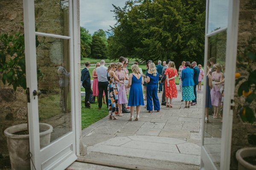
<path id="1" fill-rule="evenodd" d="M 177 88 L 175 84 L 175 78 L 178 73 L 175 68 L 174 62 L 169 62 L 169 68 L 166 68 L 166 82 L 165 82 L 165 94 L 166 94 L 166 108 L 169 106 L 172 108 L 172 98 L 177 98 Z M 170 99 L 170 103 L 168 105 L 168 99 Z"/>

